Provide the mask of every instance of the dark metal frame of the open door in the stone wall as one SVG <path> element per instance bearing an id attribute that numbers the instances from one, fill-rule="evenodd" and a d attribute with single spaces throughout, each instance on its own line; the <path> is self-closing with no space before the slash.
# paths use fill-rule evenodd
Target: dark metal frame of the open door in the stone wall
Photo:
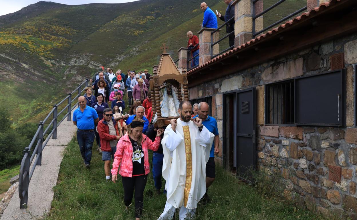
<path id="1" fill-rule="evenodd" d="M 238 142 L 238 135 L 237 135 L 237 124 L 238 124 L 238 94 L 239 93 L 242 93 L 242 92 L 248 92 L 248 91 L 252 91 L 252 104 L 253 104 L 253 106 L 252 106 L 252 108 L 253 108 L 253 111 L 254 111 L 254 113 L 253 113 L 253 137 L 252 137 L 252 145 L 253 145 L 253 154 L 252 154 L 252 164 L 253 164 L 253 169 L 256 169 L 256 87 L 251 87 L 251 88 L 247 88 L 247 89 L 236 89 L 236 90 L 233 90 L 233 91 L 228 91 L 228 92 L 223 92 L 223 97 L 222 97 L 222 104 L 223 104 L 223 124 L 226 124 L 226 120 L 227 120 L 227 118 L 226 118 L 226 106 L 225 106 L 225 99 L 226 99 L 226 96 L 227 95 L 234 95 L 234 100 L 235 100 L 235 106 L 234 106 L 234 116 L 233 117 L 235 117 L 235 123 L 233 124 L 233 133 L 234 133 L 234 131 L 235 131 L 235 143 L 234 143 L 234 145 L 235 145 L 235 147 L 236 147 L 236 155 L 235 155 L 235 157 L 236 157 L 236 169 L 237 169 L 237 172 L 236 172 L 236 177 L 238 178 L 238 179 L 241 179 L 241 180 L 243 180 L 243 181 L 246 181 L 246 182 L 248 182 L 248 183 L 252 183 L 252 181 L 253 181 L 253 179 L 252 179 L 252 181 L 250 181 L 250 180 L 247 180 L 247 179 L 244 179 L 244 178 L 242 178 L 241 176 L 239 176 L 238 175 L 238 145 L 237 145 L 237 142 Z M 226 168 L 226 163 L 227 163 L 227 150 L 226 150 L 226 128 L 225 127 L 223 127 L 222 128 L 222 137 L 223 137 L 223 146 L 222 146 L 222 151 L 223 151 L 223 155 L 222 155 L 222 157 L 223 157 L 223 164 L 224 164 L 224 167 Z"/>

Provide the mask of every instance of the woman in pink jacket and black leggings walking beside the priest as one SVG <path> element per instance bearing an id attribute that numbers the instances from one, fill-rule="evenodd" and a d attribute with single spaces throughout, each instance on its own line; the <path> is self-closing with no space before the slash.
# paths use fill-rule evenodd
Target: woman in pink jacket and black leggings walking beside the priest
<path id="1" fill-rule="evenodd" d="M 124 188 L 124 204 L 129 208 L 135 189 L 135 219 L 140 220 L 144 206 L 144 189 L 147 174 L 150 172 L 149 153 L 147 149 L 156 151 L 159 149 L 160 136 L 164 132 L 158 129 L 155 141 L 142 134 L 144 121 L 140 118 L 134 119 L 127 126 L 127 134 L 119 140 L 116 145 L 112 173 L 112 181 L 117 180 L 119 174 Z"/>

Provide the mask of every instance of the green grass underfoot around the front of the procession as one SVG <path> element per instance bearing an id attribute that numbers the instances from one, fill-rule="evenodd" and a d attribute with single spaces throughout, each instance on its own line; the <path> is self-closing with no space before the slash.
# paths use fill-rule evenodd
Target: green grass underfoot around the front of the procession
<path id="1" fill-rule="evenodd" d="M 323 219 L 291 202 L 263 196 L 256 188 L 241 183 L 219 166 L 216 174 L 216 181 L 209 190 L 212 201 L 206 206 L 199 204 L 196 220 Z M 75 138 L 66 148 L 54 191 L 52 209 L 45 218 L 47 220 L 134 219 L 133 207 L 129 212 L 125 211 L 120 178 L 116 184 L 105 181 L 101 155 L 95 150 L 91 169 L 84 169 Z M 150 173 L 144 192 L 142 219 L 157 219 L 165 206 L 166 196 L 156 195 L 154 191 Z M 174 219 L 177 220 L 177 216 Z"/>

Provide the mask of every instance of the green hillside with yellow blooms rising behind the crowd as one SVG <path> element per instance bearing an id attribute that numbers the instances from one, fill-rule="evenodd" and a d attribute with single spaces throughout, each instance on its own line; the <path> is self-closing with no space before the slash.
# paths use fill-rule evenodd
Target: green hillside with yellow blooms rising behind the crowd
<path id="1" fill-rule="evenodd" d="M 224 14 L 221 0 L 207 0 Z M 264 1 L 264 8 L 276 0 Z M 198 1 L 141 0 L 123 4 L 63 5 L 40 1 L 0 16 L 0 100 L 14 122 L 38 122 L 49 108 L 98 66 L 143 70 L 157 65 L 166 43 L 174 60 L 187 45 L 186 32 L 200 29 Z M 300 9 L 287 0 L 264 17 L 264 25 Z M 218 20 L 218 24 L 223 24 Z M 225 29 L 221 31 L 225 35 Z M 220 48 L 226 48 L 221 42 Z"/>

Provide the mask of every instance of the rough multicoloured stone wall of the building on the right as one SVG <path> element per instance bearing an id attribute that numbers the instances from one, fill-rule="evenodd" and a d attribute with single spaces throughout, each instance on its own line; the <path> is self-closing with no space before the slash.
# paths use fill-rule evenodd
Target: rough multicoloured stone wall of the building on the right
<path id="1" fill-rule="evenodd" d="M 330 70 L 330 56 L 344 53 L 346 67 L 346 127 L 284 127 L 265 125 L 265 84 Z M 279 172 L 286 195 L 301 196 L 320 211 L 357 215 L 357 128 L 354 128 L 354 70 L 357 34 L 262 63 L 244 71 L 190 88 L 190 99 L 212 96 L 212 116 L 220 132 L 222 161 L 223 92 L 256 87 L 257 168 Z M 328 165 L 342 167 L 341 184 L 330 181 Z M 311 206 L 309 207 L 311 208 Z"/>

